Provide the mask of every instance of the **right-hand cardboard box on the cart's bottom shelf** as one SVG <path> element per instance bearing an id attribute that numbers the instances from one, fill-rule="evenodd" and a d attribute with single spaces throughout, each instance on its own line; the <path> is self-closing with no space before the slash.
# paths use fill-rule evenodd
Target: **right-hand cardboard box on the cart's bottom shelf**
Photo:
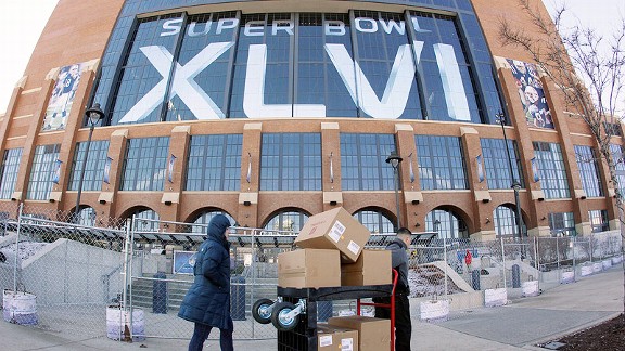
<path id="1" fill-rule="evenodd" d="M 360 351 L 391 349 L 391 320 L 349 315 L 331 317 L 328 320 L 328 324 L 358 330 L 358 348 Z"/>

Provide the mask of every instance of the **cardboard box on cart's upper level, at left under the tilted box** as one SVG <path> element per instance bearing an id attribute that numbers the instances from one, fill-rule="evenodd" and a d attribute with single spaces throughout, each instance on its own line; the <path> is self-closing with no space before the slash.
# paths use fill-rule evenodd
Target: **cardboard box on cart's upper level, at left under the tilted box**
<path id="1" fill-rule="evenodd" d="M 299 249 L 278 255 L 278 286 L 320 288 L 341 286 L 337 250 Z"/>

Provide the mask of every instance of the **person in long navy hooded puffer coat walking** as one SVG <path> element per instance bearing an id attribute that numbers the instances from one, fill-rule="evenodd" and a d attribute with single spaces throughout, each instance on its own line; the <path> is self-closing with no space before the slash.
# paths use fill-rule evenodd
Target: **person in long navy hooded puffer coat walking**
<path id="1" fill-rule="evenodd" d="M 233 350 L 230 317 L 230 221 L 224 214 L 213 217 L 193 266 L 193 285 L 187 291 L 178 316 L 195 323 L 189 351 L 202 350 L 213 327 L 219 328 L 222 351 Z"/>

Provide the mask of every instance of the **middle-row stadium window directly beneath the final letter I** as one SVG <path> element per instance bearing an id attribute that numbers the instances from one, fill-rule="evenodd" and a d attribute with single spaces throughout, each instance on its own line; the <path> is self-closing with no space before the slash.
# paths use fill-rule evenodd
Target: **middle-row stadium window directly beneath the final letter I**
<path id="1" fill-rule="evenodd" d="M 460 138 L 417 135 L 421 190 L 469 188 Z"/>

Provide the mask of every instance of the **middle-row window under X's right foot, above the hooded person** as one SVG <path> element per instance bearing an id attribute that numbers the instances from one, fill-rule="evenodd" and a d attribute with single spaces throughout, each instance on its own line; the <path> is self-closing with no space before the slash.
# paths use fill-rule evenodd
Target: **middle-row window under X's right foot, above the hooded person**
<path id="1" fill-rule="evenodd" d="M 192 135 L 184 190 L 238 191 L 242 145 L 242 134 Z"/>

